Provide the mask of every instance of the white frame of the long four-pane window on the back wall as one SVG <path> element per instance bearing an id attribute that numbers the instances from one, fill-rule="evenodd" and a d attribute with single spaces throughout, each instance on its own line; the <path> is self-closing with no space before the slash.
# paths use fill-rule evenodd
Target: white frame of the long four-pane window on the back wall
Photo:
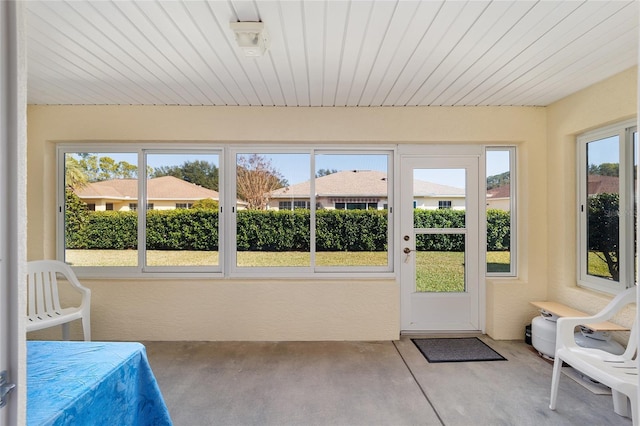
<path id="1" fill-rule="evenodd" d="M 310 278 L 335 278 L 335 277 L 368 277 L 368 278 L 391 278 L 395 277 L 394 272 L 394 216 L 393 216 L 393 191 L 396 189 L 393 183 L 394 162 L 396 158 L 396 146 L 377 146 L 375 149 L 365 149 L 361 147 L 336 148 L 335 146 L 314 146 L 309 145 L 269 145 L 269 146 L 249 146 L 249 145 L 224 145 L 224 144 L 189 144 L 166 142 L 143 142 L 143 143 L 122 143 L 122 142 L 102 142 L 102 143 L 60 143 L 56 148 L 57 152 L 57 218 L 56 218 L 56 253 L 59 260 L 65 257 L 65 154 L 91 152 L 100 154 L 109 153 L 132 153 L 137 154 L 138 170 L 146 170 L 146 156 L 162 153 L 189 154 L 189 152 L 211 153 L 219 155 L 219 194 L 220 194 L 220 222 L 219 222 L 219 257 L 218 265 L 215 266 L 146 266 L 146 247 L 138 247 L 138 264 L 136 266 L 101 266 L 101 267 L 73 267 L 77 275 L 81 277 L 149 277 L 149 278 L 176 278 L 176 277 L 310 277 Z M 291 267 L 291 268 L 238 268 L 236 267 L 236 154 L 237 153 L 257 153 L 257 154 L 290 154 L 309 153 L 312 158 L 315 154 L 372 154 L 387 155 L 387 176 L 389 177 L 388 194 L 388 244 L 387 244 L 387 265 L 381 266 L 354 266 L 354 267 Z M 225 167 L 225 164 L 229 165 Z M 228 169 L 228 172 L 227 172 Z M 315 179 L 315 162 L 310 162 L 310 179 Z M 226 176 L 228 174 L 228 176 Z M 225 188 L 231 188 L 225 190 Z M 312 191 L 313 194 L 313 191 Z M 138 179 L 138 205 L 146 203 L 146 179 Z M 230 208 L 223 208 L 224 205 Z M 310 206 L 315 205 L 315 196 L 309 202 Z M 146 240 L 146 210 L 137 209 L 138 213 L 138 241 Z M 311 209 L 312 220 L 315 223 L 315 209 Z M 311 233 L 315 232 L 312 228 Z M 312 249 L 315 251 L 315 247 Z"/>

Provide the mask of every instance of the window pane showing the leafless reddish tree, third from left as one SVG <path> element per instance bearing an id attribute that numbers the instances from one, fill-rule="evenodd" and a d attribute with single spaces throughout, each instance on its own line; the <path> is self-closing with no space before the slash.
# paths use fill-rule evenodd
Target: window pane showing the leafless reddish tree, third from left
<path id="1" fill-rule="evenodd" d="M 309 170 L 309 154 L 236 156 L 237 266 L 311 265 Z"/>

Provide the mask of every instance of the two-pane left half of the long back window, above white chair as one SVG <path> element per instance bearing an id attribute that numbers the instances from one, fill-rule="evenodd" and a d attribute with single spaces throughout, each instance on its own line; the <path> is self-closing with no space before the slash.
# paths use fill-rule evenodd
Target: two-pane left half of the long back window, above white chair
<path id="1" fill-rule="evenodd" d="M 65 262 L 81 268 L 220 269 L 218 153 L 67 148 L 59 158 L 59 252 Z"/>

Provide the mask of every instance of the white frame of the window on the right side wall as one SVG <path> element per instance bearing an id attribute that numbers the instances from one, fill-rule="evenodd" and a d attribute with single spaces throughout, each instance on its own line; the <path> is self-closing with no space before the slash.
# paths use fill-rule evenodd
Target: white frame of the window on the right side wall
<path id="1" fill-rule="evenodd" d="M 577 276 L 578 285 L 610 294 L 617 294 L 634 285 L 634 241 L 633 241 L 633 133 L 637 131 L 636 119 L 602 127 L 577 137 Z M 608 137 L 619 138 L 619 281 L 589 275 L 587 273 L 587 146 Z M 631 236 L 631 238 L 625 238 Z"/>

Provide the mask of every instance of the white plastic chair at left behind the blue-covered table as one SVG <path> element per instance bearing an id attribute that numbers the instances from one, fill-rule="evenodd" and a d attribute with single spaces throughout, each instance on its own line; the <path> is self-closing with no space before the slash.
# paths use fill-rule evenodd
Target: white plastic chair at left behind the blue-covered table
<path id="1" fill-rule="evenodd" d="M 69 340 L 69 323 L 82 319 L 84 340 L 91 340 L 91 290 L 83 287 L 71 268 L 57 260 L 27 263 L 27 331 L 62 325 L 62 338 Z M 61 275 L 82 295 L 80 306 L 63 308 L 58 296 Z"/>

